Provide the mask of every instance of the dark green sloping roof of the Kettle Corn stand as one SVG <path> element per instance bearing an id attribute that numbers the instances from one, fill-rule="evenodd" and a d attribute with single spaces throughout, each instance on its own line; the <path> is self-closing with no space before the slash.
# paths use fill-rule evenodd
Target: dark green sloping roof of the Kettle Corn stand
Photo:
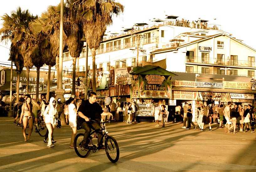
<path id="1" fill-rule="evenodd" d="M 143 67 L 134 67 L 133 72 L 130 72 L 130 74 L 150 74 L 150 75 L 172 75 L 175 76 L 176 74 L 169 72 L 168 70 L 165 70 L 159 66 L 143 66 Z"/>

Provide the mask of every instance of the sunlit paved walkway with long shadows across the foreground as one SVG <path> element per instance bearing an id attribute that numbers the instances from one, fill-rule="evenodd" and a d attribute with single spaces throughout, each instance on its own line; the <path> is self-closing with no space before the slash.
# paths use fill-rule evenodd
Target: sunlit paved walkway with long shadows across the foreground
<path id="1" fill-rule="evenodd" d="M 13 118 L 0 117 L 0 171 L 256 171 L 255 133 L 227 134 L 217 124 L 211 132 L 181 129 L 181 123 L 154 125 L 107 124 L 120 148 L 120 158 L 113 164 L 104 150 L 79 158 L 68 147 L 69 126 L 55 129 L 57 143 L 47 148 L 34 131 L 33 141 L 24 142 L 22 128 L 13 124 Z"/>

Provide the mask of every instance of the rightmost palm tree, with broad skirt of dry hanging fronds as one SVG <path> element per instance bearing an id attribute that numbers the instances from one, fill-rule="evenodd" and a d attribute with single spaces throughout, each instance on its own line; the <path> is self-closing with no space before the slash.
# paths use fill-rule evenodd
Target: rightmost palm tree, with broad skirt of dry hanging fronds
<path id="1" fill-rule="evenodd" d="M 78 14 L 82 16 L 83 32 L 92 55 L 92 90 L 96 92 L 96 49 L 99 48 L 112 15 L 123 13 L 124 6 L 114 0 L 78 0 Z"/>

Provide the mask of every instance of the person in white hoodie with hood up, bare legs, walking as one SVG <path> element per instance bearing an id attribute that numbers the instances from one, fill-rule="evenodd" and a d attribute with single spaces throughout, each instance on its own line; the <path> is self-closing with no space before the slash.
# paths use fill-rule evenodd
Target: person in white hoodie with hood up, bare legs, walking
<path id="1" fill-rule="evenodd" d="M 49 130 L 48 144 L 47 144 L 48 147 L 54 146 L 54 144 L 52 144 L 52 134 L 56 124 L 55 117 L 56 115 L 58 115 L 56 107 L 57 107 L 57 102 L 54 97 L 51 97 L 49 105 L 46 107 L 44 111 L 44 122 L 46 124 L 47 129 Z"/>

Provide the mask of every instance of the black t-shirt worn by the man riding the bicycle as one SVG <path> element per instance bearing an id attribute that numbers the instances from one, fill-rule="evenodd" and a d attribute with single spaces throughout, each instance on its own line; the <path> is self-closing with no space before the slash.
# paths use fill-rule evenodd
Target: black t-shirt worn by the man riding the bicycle
<path id="1" fill-rule="evenodd" d="M 92 120 L 101 119 L 101 114 L 103 112 L 102 107 L 98 103 L 91 104 L 89 100 L 85 100 L 79 106 L 77 112 L 83 113 L 86 117 Z M 85 119 L 79 117 L 79 121 L 85 122 Z"/>

